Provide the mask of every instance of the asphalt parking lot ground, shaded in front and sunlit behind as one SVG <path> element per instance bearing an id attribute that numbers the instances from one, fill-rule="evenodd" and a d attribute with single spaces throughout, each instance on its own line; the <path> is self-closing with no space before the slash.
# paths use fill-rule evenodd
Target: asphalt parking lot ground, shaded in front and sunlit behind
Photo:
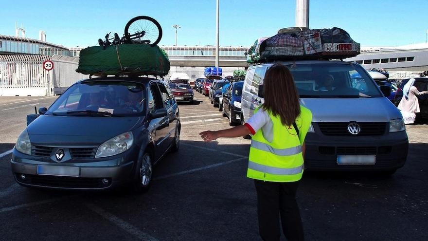
<path id="1" fill-rule="evenodd" d="M 204 143 L 200 131 L 229 125 L 199 93 L 193 105 L 180 104 L 180 150 L 155 168 L 148 193 L 17 185 L 8 150 L 34 106 L 54 99 L 0 97 L 0 240 L 259 240 L 255 189 L 245 177 L 250 141 Z M 428 122 L 407 131 L 409 157 L 392 177 L 304 174 L 297 199 L 306 240 L 428 240 Z"/>

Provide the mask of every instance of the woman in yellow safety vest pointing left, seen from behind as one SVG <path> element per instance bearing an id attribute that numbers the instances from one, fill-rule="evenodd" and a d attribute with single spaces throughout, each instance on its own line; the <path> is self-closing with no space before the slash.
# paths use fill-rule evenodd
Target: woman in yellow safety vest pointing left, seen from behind
<path id="1" fill-rule="evenodd" d="M 205 142 L 220 137 L 252 135 L 247 177 L 254 179 L 260 236 L 280 240 L 280 217 L 288 241 L 303 240 L 296 190 L 303 174 L 304 138 L 312 113 L 299 103 L 290 71 L 281 64 L 267 70 L 264 104 L 245 125 L 204 131 Z"/>

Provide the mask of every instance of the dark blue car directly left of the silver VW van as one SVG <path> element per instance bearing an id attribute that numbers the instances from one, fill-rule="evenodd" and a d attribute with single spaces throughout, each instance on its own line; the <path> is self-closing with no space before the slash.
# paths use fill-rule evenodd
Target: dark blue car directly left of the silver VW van
<path id="1" fill-rule="evenodd" d="M 229 125 L 241 124 L 241 96 L 243 81 L 233 82 L 223 94 L 223 116 L 229 118 Z"/>

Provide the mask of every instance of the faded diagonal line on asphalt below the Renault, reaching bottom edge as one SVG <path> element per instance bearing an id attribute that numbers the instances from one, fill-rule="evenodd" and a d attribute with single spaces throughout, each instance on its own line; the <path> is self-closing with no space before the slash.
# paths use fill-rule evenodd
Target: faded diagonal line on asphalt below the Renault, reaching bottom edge
<path id="1" fill-rule="evenodd" d="M 122 228 L 126 232 L 136 236 L 139 240 L 144 241 L 157 241 L 154 237 L 142 232 L 137 227 L 133 226 L 132 224 L 125 222 L 123 219 L 120 219 L 113 214 L 105 211 L 104 209 L 95 206 L 94 204 L 85 204 L 90 210 L 94 211 L 95 213 L 99 214 L 103 218 L 107 219 L 108 221 L 112 222 L 116 226 Z"/>

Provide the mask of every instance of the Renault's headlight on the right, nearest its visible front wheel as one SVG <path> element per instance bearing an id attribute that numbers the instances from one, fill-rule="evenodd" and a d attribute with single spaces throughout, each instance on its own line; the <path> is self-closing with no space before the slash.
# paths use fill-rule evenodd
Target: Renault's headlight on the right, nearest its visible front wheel
<path id="1" fill-rule="evenodd" d="M 120 154 L 125 150 L 131 148 L 133 142 L 134 136 L 130 131 L 117 135 L 106 141 L 105 143 L 101 144 L 100 147 L 98 147 L 97 154 L 95 154 L 95 158 Z"/>

